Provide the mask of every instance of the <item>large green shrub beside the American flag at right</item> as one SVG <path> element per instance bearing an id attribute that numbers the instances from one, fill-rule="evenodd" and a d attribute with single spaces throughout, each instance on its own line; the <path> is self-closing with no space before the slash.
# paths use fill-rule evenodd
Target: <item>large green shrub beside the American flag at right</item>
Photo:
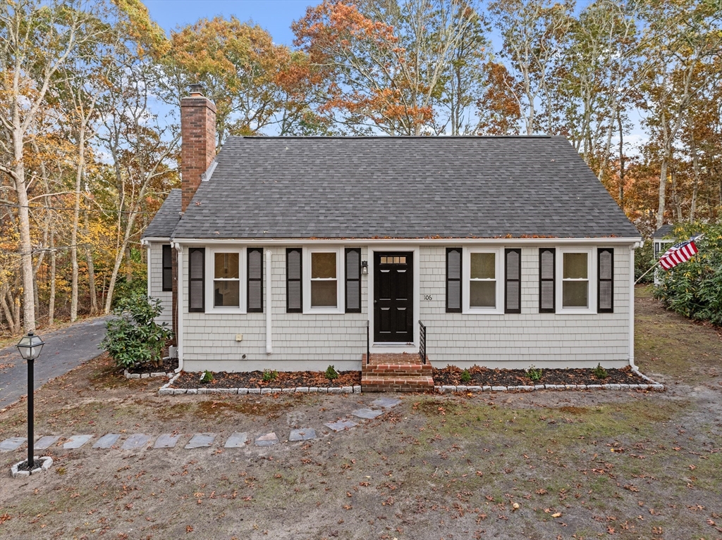
<path id="1" fill-rule="evenodd" d="M 722 224 L 684 223 L 674 227 L 676 242 L 703 233 L 691 260 L 661 270 L 654 296 L 684 317 L 722 326 Z"/>

